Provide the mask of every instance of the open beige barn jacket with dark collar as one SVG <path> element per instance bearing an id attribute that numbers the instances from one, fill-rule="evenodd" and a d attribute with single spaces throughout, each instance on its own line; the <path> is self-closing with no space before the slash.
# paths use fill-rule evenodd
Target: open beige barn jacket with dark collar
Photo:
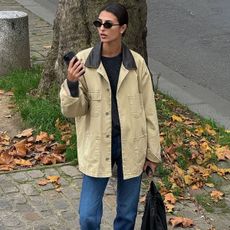
<path id="1" fill-rule="evenodd" d="M 101 63 L 101 44 L 77 54 L 85 62 L 79 97 L 72 97 L 65 80 L 61 86 L 61 110 L 74 117 L 79 169 L 92 177 L 110 177 L 111 88 Z M 117 85 L 124 179 L 139 176 L 146 158 L 160 162 L 160 139 L 151 76 L 144 59 L 122 47 Z"/>

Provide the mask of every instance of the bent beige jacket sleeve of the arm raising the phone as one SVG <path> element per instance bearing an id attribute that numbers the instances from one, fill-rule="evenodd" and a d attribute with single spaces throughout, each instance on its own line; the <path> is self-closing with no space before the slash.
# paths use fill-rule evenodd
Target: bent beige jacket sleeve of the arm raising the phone
<path id="1" fill-rule="evenodd" d="M 63 82 L 60 90 L 61 111 L 66 117 L 84 116 L 88 111 L 88 98 L 86 94 L 86 87 L 84 87 L 83 80 L 79 82 L 79 96 L 72 97 L 67 80 Z"/>

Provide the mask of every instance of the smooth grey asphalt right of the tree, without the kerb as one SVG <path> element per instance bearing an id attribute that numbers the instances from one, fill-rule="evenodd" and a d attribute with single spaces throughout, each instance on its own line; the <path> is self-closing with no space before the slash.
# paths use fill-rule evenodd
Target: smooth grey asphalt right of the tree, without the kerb
<path id="1" fill-rule="evenodd" d="M 230 1 L 147 2 L 149 56 L 230 102 Z"/>

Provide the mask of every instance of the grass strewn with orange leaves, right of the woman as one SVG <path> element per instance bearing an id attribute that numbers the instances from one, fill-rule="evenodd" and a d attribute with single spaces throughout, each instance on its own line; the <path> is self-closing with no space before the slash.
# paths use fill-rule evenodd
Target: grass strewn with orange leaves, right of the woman
<path id="1" fill-rule="evenodd" d="M 204 186 L 211 189 L 213 201 L 222 200 L 224 193 L 216 190 L 209 179 L 216 173 L 229 180 L 230 168 L 218 166 L 220 161 L 229 162 L 230 159 L 230 143 L 221 145 L 219 142 L 223 133 L 229 138 L 228 131 L 210 125 L 211 122 L 204 121 L 160 92 L 156 94 L 156 104 L 163 158 L 157 170 L 158 186 L 166 211 L 173 213 L 177 201 L 192 200 L 190 195 L 186 197 L 185 194 L 189 194 L 186 191 Z M 173 227 L 191 227 L 194 224 L 184 217 L 174 217 L 169 223 Z"/>

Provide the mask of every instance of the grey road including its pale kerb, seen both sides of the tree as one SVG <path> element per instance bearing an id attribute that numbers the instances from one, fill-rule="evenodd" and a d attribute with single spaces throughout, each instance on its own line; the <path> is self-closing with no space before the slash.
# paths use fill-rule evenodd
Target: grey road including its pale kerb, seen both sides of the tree
<path id="1" fill-rule="evenodd" d="M 58 0 L 17 2 L 53 23 Z M 230 129 L 230 1 L 147 4 L 149 65 L 161 73 L 159 89 Z"/>

